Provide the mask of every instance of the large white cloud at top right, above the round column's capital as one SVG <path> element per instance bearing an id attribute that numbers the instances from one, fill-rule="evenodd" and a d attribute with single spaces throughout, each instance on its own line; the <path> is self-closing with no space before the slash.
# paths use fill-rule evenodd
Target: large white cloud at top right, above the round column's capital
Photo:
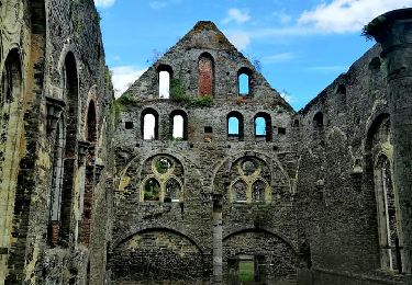
<path id="1" fill-rule="evenodd" d="M 324 33 L 358 32 L 374 18 L 394 9 L 410 7 L 412 0 L 333 0 L 304 11 L 299 25 L 312 26 Z"/>

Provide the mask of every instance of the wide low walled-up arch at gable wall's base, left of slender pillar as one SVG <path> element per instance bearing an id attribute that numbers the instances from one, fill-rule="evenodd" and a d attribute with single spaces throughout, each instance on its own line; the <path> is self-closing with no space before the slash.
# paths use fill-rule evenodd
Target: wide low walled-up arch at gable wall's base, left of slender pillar
<path id="1" fill-rule="evenodd" d="M 203 278 L 203 253 L 186 235 L 149 228 L 121 241 L 110 254 L 113 284 L 194 283 Z"/>

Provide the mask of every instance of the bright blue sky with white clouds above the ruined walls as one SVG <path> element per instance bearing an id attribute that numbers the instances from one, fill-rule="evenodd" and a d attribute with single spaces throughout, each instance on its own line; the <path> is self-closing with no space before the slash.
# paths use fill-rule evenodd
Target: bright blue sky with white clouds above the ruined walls
<path id="1" fill-rule="evenodd" d="M 94 0 L 118 94 L 200 20 L 213 21 L 300 110 L 375 43 L 375 16 L 412 0 Z"/>

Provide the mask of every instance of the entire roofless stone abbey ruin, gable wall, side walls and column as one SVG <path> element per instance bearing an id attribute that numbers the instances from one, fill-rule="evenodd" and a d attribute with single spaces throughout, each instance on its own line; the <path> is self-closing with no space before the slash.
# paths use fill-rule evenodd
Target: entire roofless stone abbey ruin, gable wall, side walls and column
<path id="1" fill-rule="evenodd" d="M 0 16 L 0 284 L 412 284 L 412 10 L 299 112 L 212 22 L 114 100 L 92 0 Z"/>

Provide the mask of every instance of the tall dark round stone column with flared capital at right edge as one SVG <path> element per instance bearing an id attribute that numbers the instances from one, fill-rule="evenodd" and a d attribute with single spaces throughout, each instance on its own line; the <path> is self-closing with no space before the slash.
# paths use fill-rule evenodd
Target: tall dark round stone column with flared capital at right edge
<path id="1" fill-rule="evenodd" d="M 393 138 L 393 182 L 399 193 L 403 271 L 412 284 L 412 9 L 378 16 L 367 36 L 382 45 Z"/>

